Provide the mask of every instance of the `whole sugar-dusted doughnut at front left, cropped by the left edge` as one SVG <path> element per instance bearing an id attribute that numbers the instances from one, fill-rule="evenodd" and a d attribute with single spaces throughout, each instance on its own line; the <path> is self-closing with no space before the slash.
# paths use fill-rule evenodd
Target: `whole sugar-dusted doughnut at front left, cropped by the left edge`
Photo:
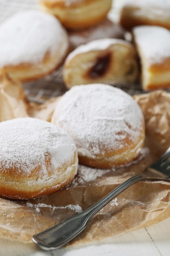
<path id="1" fill-rule="evenodd" d="M 76 173 L 76 146 L 64 130 L 34 118 L 0 123 L 0 196 L 46 195 L 68 184 Z"/>

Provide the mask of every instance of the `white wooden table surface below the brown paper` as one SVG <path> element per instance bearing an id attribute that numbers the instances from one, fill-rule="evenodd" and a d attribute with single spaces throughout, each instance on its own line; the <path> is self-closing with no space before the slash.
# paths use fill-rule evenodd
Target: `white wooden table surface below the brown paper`
<path id="1" fill-rule="evenodd" d="M 110 240 L 52 252 L 36 245 L 0 239 L 0 256 L 169 256 L 170 218 L 156 225 L 128 232 Z"/>

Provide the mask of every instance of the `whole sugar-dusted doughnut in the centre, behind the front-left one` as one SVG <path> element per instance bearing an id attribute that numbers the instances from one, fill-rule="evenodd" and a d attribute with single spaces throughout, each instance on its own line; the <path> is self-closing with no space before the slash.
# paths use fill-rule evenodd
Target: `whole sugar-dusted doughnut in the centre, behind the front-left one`
<path id="1" fill-rule="evenodd" d="M 130 95 L 110 85 L 74 86 L 57 103 L 53 124 L 77 146 L 79 162 L 97 168 L 121 166 L 144 143 L 144 117 Z"/>

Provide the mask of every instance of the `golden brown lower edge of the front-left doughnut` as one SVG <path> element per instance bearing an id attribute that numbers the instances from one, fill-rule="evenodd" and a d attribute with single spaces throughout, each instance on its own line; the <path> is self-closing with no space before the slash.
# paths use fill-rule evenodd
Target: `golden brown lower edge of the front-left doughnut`
<path id="1" fill-rule="evenodd" d="M 45 162 L 46 166 L 49 166 L 51 164 L 51 158 L 46 158 Z M 0 196 L 11 199 L 30 199 L 53 193 L 73 180 L 73 177 L 77 172 L 76 163 L 77 154 L 75 153 L 73 161 L 69 166 L 63 165 L 57 170 L 51 170 L 48 172 L 49 177 L 55 172 L 60 172 L 63 174 L 62 178 L 56 176 L 55 179 L 50 180 L 49 177 L 47 177 L 44 184 L 35 184 L 31 187 L 28 186 L 28 183 L 40 178 L 38 175 L 39 166 L 31 171 L 29 177 L 25 176 L 24 173 L 21 173 L 18 177 L 14 177 L 15 173 L 18 172 L 18 168 L 16 167 L 6 169 L 5 173 L 0 174 Z M 66 172 L 67 168 L 71 168 L 69 175 Z"/>

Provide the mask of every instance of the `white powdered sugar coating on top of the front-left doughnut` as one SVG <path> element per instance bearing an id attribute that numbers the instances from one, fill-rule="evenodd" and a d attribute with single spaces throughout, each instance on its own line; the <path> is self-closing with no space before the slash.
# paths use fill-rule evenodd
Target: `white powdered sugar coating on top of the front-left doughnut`
<path id="1" fill-rule="evenodd" d="M 0 171 L 17 168 L 16 176 L 29 176 L 40 167 L 48 174 L 45 158 L 50 157 L 53 171 L 72 164 L 76 151 L 73 139 L 57 126 L 34 118 L 17 118 L 0 123 Z"/>

